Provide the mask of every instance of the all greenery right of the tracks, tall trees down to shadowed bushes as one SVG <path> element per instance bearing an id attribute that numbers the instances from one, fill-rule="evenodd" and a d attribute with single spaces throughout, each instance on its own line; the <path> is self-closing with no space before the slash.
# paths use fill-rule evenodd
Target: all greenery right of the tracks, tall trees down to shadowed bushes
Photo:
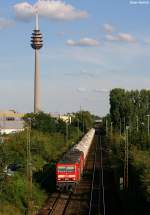
<path id="1" fill-rule="evenodd" d="M 116 181 L 124 176 L 125 143 L 129 142 L 129 186 L 120 192 L 124 214 L 150 214 L 150 91 L 110 92 L 110 115 L 106 128 L 110 144 L 110 161 Z M 111 132 L 111 125 L 113 132 Z M 119 188 L 119 187 L 118 187 Z"/>

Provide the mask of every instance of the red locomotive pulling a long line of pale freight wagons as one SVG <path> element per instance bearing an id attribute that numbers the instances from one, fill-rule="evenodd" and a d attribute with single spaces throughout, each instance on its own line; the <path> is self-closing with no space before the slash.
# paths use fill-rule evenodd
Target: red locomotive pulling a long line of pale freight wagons
<path id="1" fill-rule="evenodd" d="M 91 128 L 56 164 L 57 190 L 73 191 L 81 180 L 95 129 Z"/>

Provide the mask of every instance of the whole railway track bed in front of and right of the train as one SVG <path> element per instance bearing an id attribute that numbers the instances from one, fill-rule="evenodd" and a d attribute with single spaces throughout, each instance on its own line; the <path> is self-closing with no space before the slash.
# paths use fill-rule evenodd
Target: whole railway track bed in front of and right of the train
<path id="1" fill-rule="evenodd" d="M 107 139 L 96 134 L 84 174 L 75 192 L 53 193 L 37 215 L 120 215 L 114 175 L 108 162 Z"/>

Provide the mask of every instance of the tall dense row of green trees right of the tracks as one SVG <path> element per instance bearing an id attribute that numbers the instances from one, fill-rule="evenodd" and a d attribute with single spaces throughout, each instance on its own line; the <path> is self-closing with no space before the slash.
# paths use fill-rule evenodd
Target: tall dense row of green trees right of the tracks
<path id="1" fill-rule="evenodd" d="M 125 91 L 113 89 L 110 92 L 110 118 L 116 130 L 142 132 L 147 130 L 147 115 L 150 114 L 150 90 Z"/>

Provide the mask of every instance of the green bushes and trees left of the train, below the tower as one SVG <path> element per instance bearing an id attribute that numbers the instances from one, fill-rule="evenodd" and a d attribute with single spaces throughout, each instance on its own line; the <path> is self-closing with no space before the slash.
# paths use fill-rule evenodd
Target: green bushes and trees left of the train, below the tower
<path id="1" fill-rule="evenodd" d="M 77 116 L 82 115 L 82 118 Z M 92 117 L 91 117 L 92 118 Z M 26 128 L 21 133 L 6 135 L 0 144 L 0 215 L 25 214 L 29 198 L 27 179 L 27 142 L 31 144 L 33 173 L 32 204 L 41 207 L 55 190 L 55 163 L 92 126 L 90 113 L 77 113 L 71 124 L 45 113 L 27 114 Z M 76 122 L 78 123 L 76 124 Z M 13 165 L 15 171 L 6 167 Z M 11 167 L 12 168 L 12 167 Z"/>

